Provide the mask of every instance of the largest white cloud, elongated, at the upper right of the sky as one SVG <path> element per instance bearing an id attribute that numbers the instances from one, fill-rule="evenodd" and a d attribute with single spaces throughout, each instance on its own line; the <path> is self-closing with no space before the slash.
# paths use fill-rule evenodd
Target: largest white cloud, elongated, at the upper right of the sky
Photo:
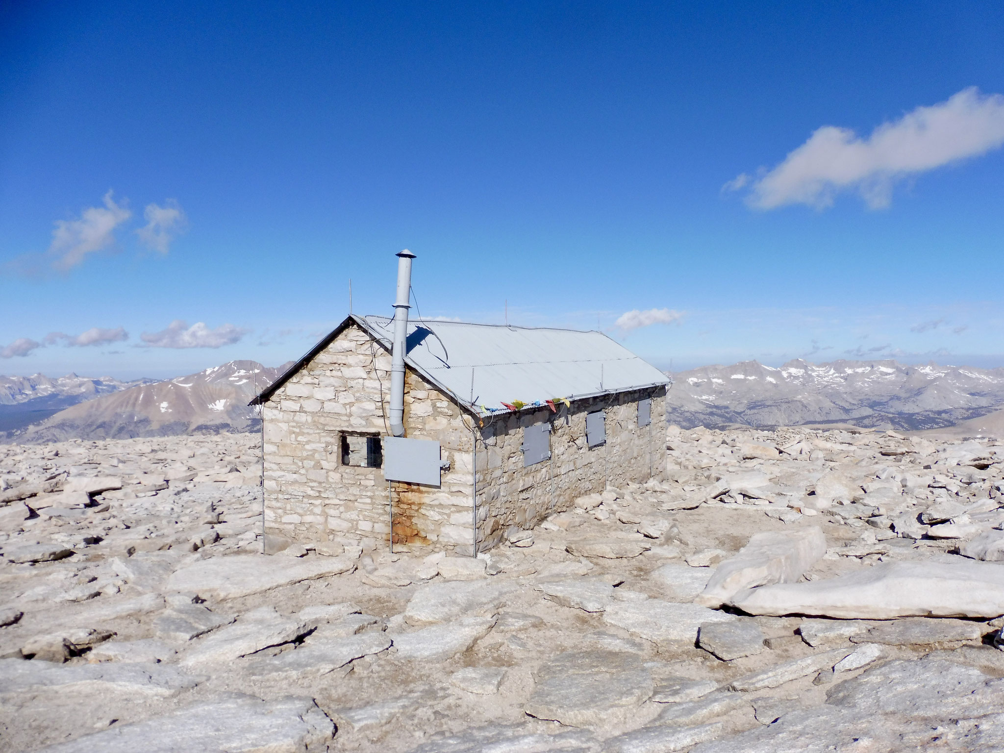
<path id="1" fill-rule="evenodd" d="M 823 126 L 780 165 L 756 180 L 751 207 L 786 204 L 825 208 L 842 190 L 856 190 L 870 209 L 888 207 L 897 180 L 978 157 L 1004 144 L 1004 96 L 963 89 L 947 101 L 921 106 L 861 139 L 849 129 Z M 723 190 L 739 190 L 740 175 Z"/>

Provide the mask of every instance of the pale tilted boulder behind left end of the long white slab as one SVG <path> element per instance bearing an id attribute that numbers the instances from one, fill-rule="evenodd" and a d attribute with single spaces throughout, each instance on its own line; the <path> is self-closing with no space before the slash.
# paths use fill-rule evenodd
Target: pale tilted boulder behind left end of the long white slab
<path id="1" fill-rule="evenodd" d="M 826 537 L 818 526 L 754 534 L 738 554 L 718 565 L 696 600 L 718 607 L 744 588 L 794 582 L 825 553 Z"/>

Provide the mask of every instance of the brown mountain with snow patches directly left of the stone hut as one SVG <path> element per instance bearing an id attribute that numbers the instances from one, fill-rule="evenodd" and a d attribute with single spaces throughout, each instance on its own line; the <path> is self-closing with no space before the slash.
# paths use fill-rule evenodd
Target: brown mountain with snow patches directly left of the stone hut
<path id="1" fill-rule="evenodd" d="M 143 381 L 8 432 L 6 440 L 36 443 L 255 431 L 260 420 L 248 401 L 288 365 L 270 368 L 253 360 L 232 360 L 165 382 Z"/>

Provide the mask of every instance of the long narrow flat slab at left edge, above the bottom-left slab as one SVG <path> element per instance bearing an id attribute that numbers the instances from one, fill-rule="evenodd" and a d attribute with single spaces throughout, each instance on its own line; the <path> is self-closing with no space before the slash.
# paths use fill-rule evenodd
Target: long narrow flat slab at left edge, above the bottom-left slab
<path id="1" fill-rule="evenodd" d="M 0 693 L 59 689 L 87 693 L 173 696 L 204 678 L 161 664 L 86 664 L 63 667 L 52 662 L 0 659 Z"/>

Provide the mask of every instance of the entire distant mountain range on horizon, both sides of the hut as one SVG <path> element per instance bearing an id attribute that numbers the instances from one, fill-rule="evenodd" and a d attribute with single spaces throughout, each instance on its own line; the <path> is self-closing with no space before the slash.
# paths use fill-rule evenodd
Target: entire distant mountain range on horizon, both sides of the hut
<path id="1" fill-rule="evenodd" d="M 248 401 L 289 365 L 234 360 L 164 382 L 0 376 L 0 442 L 256 431 Z M 995 413 L 1004 409 L 1004 368 L 797 359 L 670 375 L 667 419 L 685 429 L 850 424 L 958 434 L 1004 426 L 1004 412 Z"/>

